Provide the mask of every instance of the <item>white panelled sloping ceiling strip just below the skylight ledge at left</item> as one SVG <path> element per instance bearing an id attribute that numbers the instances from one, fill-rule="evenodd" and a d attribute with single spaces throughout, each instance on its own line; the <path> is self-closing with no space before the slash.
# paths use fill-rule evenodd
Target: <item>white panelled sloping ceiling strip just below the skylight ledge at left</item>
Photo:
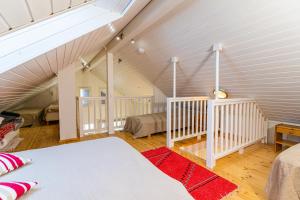
<path id="1" fill-rule="evenodd" d="M 18 0 L 18 2 L 20 1 Z M 79 57 L 95 55 L 148 2 L 149 0 L 139 0 L 133 4 L 123 18 L 113 23 L 116 29 L 114 33 L 108 26 L 102 27 L 0 74 L 0 110 L 23 100 L 22 97 L 25 94 L 35 93 L 41 83 L 54 77 L 60 69 L 67 65 L 78 62 Z M 116 2 L 112 2 L 112 8 L 115 6 L 113 3 Z"/>

